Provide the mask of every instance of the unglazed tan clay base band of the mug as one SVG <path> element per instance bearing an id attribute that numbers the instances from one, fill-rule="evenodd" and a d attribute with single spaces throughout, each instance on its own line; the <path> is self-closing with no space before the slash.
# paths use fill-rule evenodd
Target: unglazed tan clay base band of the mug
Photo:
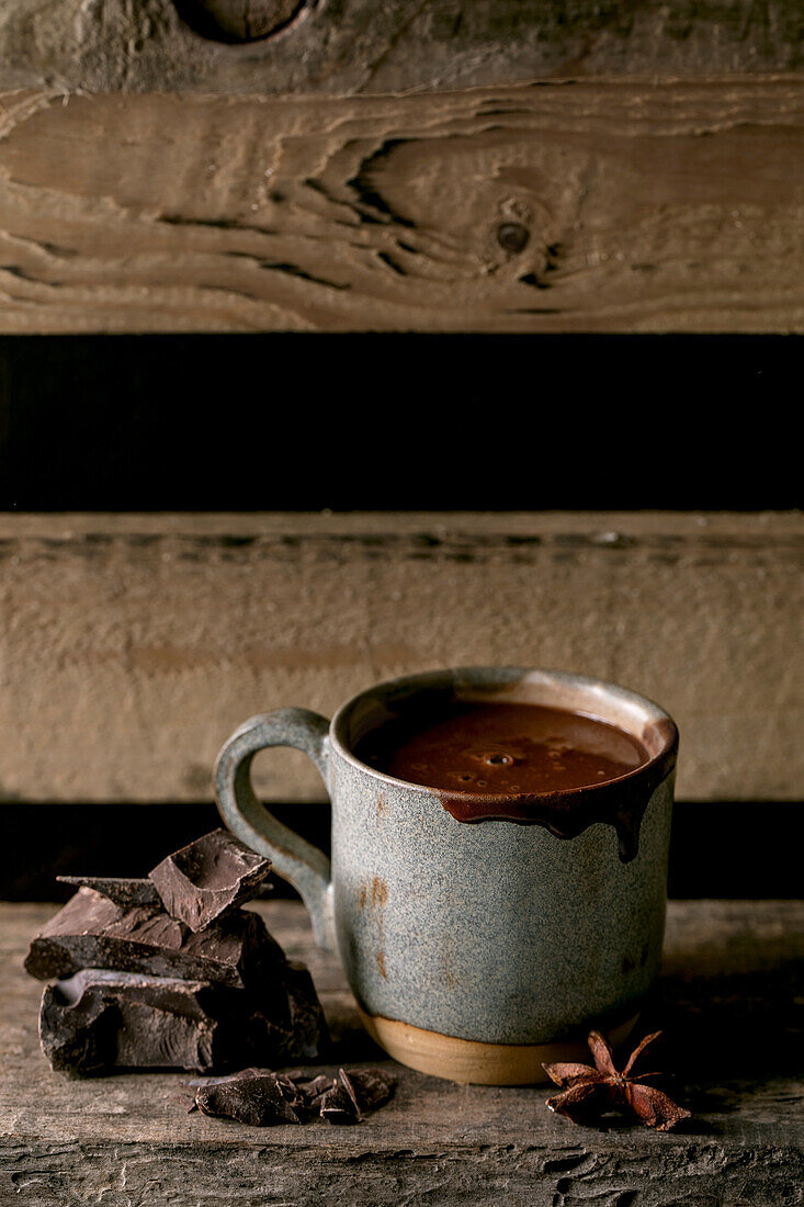
<path id="1" fill-rule="evenodd" d="M 439 1036 L 436 1031 L 412 1027 L 408 1022 L 384 1019 L 380 1014 L 366 1014 L 363 1010 L 360 1010 L 360 1018 L 372 1039 L 400 1065 L 465 1085 L 543 1085 L 549 1078 L 542 1062 L 592 1063 L 584 1040 L 484 1044 L 474 1039 Z M 639 1013 L 618 1027 L 606 1028 L 612 1048 L 628 1039 L 637 1019 Z"/>

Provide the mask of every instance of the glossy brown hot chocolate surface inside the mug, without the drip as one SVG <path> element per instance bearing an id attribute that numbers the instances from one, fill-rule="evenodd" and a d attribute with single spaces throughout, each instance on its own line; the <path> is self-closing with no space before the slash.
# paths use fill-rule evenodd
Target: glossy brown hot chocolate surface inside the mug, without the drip
<path id="1" fill-rule="evenodd" d="M 454 702 L 380 770 L 447 792 L 541 794 L 616 780 L 648 762 L 614 725 L 535 704 Z"/>

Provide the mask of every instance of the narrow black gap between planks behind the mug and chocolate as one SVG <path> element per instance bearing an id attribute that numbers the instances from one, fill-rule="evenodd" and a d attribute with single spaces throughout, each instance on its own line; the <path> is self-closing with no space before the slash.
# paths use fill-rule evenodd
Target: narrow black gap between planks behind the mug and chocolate
<path id="1" fill-rule="evenodd" d="M 330 849 L 330 806 L 272 805 Z M 674 811 L 670 897 L 802 897 L 799 801 L 681 801 Z M 0 899 L 66 900 L 57 875 L 141 876 L 165 851 L 220 826 L 197 804 L 0 804 Z M 281 880 L 274 894 L 295 897 Z"/>

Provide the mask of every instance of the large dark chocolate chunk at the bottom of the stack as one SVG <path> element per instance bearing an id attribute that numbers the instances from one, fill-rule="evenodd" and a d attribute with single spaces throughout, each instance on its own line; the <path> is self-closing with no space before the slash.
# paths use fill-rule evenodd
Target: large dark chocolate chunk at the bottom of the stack
<path id="1" fill-rule="evenodd" d="M 98 968 L 48 985 L 40 1010 L 51 1066 L 82 1074 L 237 1067 L 267 1050 L 268 1027 L 243 991 Z"/>

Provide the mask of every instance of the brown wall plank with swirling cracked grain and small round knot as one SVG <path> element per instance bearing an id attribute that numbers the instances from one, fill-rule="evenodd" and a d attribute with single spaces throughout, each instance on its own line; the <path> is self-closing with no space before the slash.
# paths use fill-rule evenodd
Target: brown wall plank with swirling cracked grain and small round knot
<path id="1" fill-rule="evenodd" d="M 804 81 L 0 97 L 0 331 L 804 331 Z"/>

